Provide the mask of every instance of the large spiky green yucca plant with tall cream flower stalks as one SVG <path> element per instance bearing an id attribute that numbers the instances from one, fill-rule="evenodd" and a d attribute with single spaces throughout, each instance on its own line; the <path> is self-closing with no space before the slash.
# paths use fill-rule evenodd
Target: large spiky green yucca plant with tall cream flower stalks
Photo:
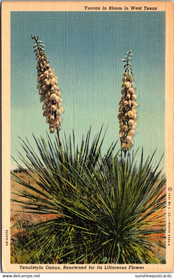
<path id="1" fill-rule="evenodd" d="M 34 39 L 37 42 L 38 38 Z M 39 44 L 41 42 L 35 46 L 36 51 Z M 39 51 L 42 54 L 42 49 Z M 165 263 L 165 176 L 161 176 L 161 171 L 157 172 L 159 164 L 153 167 L 154 154 L 144 162 L 142 149 L 138 164 L 133 150 L 132 155 L 127 152 L 132 147 L 132 141 L 128 140 L 133 136 L 130 132 L 136 126 L 130 53 L 128 51 L 126 58 L 119 114 L 120 131 L 124 132 L 121 135 L 124 158 L 120 152 L 113 154 L 116 144 L 109 147 L 105 156 L 101 155 L 102 129 L 91 147 L 90 130 L 86 139 L 82 138 L 80 148 L 75 144 L 74 134 L 73 138 L 65 136 L 63 144 L 57 136 L 53 142 L 48 134 L 47 141 L 43 137 L 35 138 L 37 153 L 28 140 L 27 143 L 22 140 L 26 155 L 19 156 L 28 169 L 26 175 L 36 186 L 12 173 L 13 179 L 21 185 L 21 190 L 13 192 L 20 199 L 15 197 L 13 200 L 19 202 L 26 213 L 55 214 L 57 217 L 37 224 L 17 237 L 12 263 Z M 43 71 L 45 73 L 46 69 Z M 47 81 L 44 79 L 44 82 Z M 38 87 L 44 91 L 43 95 L 47 91 L 47 105 L 52 101 L 52 94 L 47 96 L 52 87 L 47 85 L 43 90 L 44 85 L 39 83 Z M 126 100 L 128 97 L 131 102 Z M 44 106 L 44 109 L 55 104 Z M 50 119 L 48 113 L 54 113 L 57 108 L 54 112 L 49 109 L 45 113 Z M 125 117 L 126 113 L 128 116 Z M 51 128 L 55 128 L 54 122 L 52 124 Z M 24 170 L 20 165 L 18 167 Z"/>

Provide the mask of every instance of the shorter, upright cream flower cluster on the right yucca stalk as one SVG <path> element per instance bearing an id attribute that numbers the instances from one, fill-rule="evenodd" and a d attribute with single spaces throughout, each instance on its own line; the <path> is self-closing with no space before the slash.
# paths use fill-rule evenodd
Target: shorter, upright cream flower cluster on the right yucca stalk
<path id="1" fill-rule="evenodd" d="M 122 59 L 125 68 L 122 78 L 121 100 L 119 101 L 119 134 L 121 140 L 121 149 L 126 152 L 133 146 L 133 136 L 137 126 L 137 101 L 135 88 L 133 87 L 133 73 L 131 68 L 131 50 L 126 52 L 125 59 Z"/>

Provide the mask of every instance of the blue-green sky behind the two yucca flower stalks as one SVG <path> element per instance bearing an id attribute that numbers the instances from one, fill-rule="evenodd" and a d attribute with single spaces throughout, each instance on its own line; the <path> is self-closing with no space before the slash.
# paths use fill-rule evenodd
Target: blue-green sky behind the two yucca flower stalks
<path id="1" fill-rule="evenodd" d="M 139 103 L 133 149 L 143 147 L 147 158 L 157 148 L 154 161 L 160 160 L 165 150 L 165 12 L 11 12 L 11 155 L 17 161 L 17 150 L 24 154 L 18 136 L 35 148 L 32 133 L 46 137 L 49 131 L 31 34 L 45 44 L 58 77 L 65 110 L 61 138 L 74 130 L 80 143 L 91 126 L 93 139 L 103 124 L 102 154 L 119 139 L 121 59 L 131 49 Z M 12 159 L 11 168 L 16 167 Z"/>

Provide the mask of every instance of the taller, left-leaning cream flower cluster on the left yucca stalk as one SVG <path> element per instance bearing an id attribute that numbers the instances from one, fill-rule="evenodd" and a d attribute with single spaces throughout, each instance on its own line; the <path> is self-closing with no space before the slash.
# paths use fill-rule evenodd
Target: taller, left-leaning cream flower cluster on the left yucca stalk
<path id="1" fill-rule="evenodd" d="M 43 116 L 46 122 L 50 124 L 50 133 L 54 132 L 54 128 L 60 129 L 62 107 L 62 94 L 58 87 L 58 78 L 53 68 L 50 68 L 47 56 L 44 53 L 44 45 L 42 41 L 38 41 L 39 36 L 32 36 L 35 39 L 35 48 L 38 64 L 38 89 L 41 95 L 40 101 L 43 101 Z"/>

